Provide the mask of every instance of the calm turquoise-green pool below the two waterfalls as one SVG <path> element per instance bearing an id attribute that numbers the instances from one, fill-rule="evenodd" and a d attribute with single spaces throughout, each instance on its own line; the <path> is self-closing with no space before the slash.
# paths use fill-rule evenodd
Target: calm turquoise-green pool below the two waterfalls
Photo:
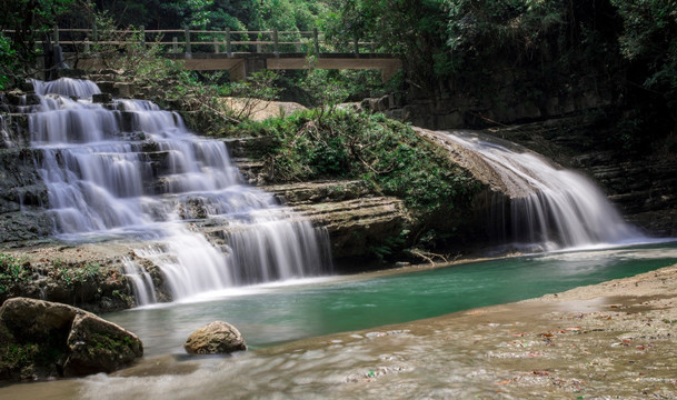
<path id="1" fill-rule="evenodd" d="M 136 332 L 147 356 L 183 353 L 188 334 L 215 320 L 232 323 L 250 348 L 260 348 L 535 298 L 676 262 L 676 243 L 551 253 L 380 278 L 332 277 L 237 289 L 205 301 L 104 318 Z"/>

